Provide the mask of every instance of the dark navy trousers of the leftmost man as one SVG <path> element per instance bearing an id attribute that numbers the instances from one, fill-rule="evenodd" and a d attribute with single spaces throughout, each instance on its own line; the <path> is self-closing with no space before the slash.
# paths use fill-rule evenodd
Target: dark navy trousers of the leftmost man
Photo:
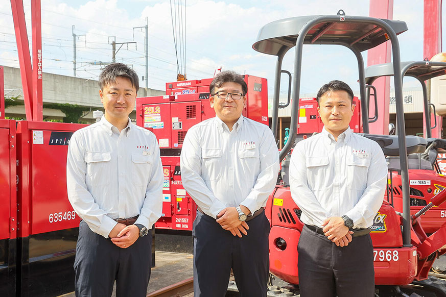
<path id="1" fill-rule="evenodd" d="M 79 225 L 75 258 L 76 297 L 145 297 L 152 262 L 152 236 L 139 237 L 127 249 L 94 233 L 85 221 Z"/>

